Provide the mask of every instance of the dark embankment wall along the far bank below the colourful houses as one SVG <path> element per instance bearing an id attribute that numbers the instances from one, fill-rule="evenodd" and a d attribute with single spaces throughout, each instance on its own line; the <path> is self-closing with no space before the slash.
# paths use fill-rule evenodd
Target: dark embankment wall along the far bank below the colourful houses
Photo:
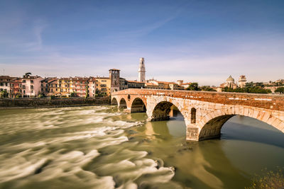
<path id="1" fill-rule="evenodd" d="M 110 97 L 99 98 L 0 98 L 0 108 L 48 108 L 110 104 Z"/>

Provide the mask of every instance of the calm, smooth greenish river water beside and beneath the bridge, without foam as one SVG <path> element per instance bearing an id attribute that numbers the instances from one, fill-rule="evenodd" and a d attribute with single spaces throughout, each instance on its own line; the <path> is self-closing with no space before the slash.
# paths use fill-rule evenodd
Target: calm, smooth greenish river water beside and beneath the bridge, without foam
<path id="1" fill-rule="evenodd" d="M 173 181 L 190 188 L 244 188 L 262 168 L 283 165 L 284 150 L 275 147 L 284 144 L 283 133 L 251 118 L 235 116 L 225 123 L 221 139 L 202 142 L 185 142 L 182 116 L 146 122 L 140 132 L 151 139 L 144 144 L 150 157 L 174 166 Z"/>

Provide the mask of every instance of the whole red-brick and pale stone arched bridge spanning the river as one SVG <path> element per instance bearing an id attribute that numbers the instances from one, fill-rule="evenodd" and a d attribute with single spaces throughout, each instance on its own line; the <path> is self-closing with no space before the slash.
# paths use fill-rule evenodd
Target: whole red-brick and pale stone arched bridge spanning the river
<path id="1" fill-rule="evenodd" d="M 111 94 L 111 103 L 130 113 L 145 112 L 148 120 L 168 120 L 174 108 L 185 118 L 187 140 L 220 137 L 234 115 L 256 118 L 284 132 L 284 96 L 207 91 L 129 88 Z"/>

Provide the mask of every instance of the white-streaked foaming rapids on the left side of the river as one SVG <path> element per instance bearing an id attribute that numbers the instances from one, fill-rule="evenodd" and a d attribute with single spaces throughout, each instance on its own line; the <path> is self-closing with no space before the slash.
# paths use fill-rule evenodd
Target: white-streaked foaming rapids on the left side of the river
<path id="1" fill-rule="evenodd" d="M 143 122 L 116 119 L 123 114 L 109 110 L 42 108 L 18 113 L 1 127 L 6 137 L 0 144 L 0 188 L 139 188 L 145 180 L 170 181 L 172 168 L 146 158 L 147 151 L 121 146 L 129 142 L 124 130 Z M 108 147 L 117 151 L 99 152 Z"/>

